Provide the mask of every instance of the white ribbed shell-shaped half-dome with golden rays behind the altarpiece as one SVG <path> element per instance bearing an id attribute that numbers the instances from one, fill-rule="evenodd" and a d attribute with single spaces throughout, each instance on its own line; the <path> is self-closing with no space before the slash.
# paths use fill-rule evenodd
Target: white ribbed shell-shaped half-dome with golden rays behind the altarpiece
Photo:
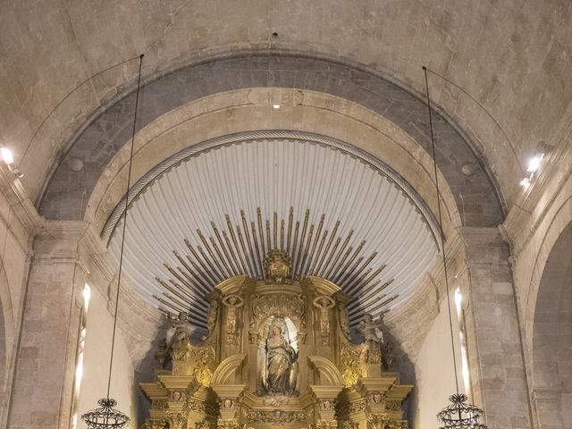
<path id="1" fill-rule="evenodd" d="M 232 275 L 263 279 L 265 254 L 280 248 L 295 278 L 324 276 L 355 298 L 354 323 L 408 299 L 438 252 L 415 191 L 342 142 L 271 134 L 183 151 L 131 189 L 130 283 L 156 307 L 189 310 L 204 325 L 206 293 Z M 120 215 L 104 232 L 115 258 Z"/>

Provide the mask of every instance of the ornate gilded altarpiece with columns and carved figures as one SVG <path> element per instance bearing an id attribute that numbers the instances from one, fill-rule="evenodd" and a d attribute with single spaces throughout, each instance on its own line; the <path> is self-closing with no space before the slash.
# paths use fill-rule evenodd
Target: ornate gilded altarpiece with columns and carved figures
<path id="1" fill-rule="evenodd" d="M 323 278 L 290 280 L 290 260 L 265 259 L 265 281 L 237 276 L 206 296 L 208 335 L 189 341 L 186 315 L 170 319 L 172 369 L 140 383 L 147 429 L 402 429 L 413 389 L 382 370 L 371 316 L 349 338 L 351 297 Z"/>

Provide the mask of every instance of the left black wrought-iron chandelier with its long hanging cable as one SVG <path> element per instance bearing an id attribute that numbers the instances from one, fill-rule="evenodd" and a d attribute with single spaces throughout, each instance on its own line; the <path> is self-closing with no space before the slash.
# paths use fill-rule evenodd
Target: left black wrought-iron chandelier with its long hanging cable
<path id="1" fill-rule="evenodd" d="M 133 114 L 133 130 L 131 133 L 131 148 L 129 158 L 129 172 L 127 174 L 127 192 L 125 194 L 125 220 L 123 221 L 122 249 L 119 257 L 119 271 L 117 274 L 117 295 L 115 297 L 114 331 L 111 340 L 111 356 L 109 358 L 109 378 L 107 379 L 107 394 L 105 398 L 97 401 L 99 408 L 94 408 L 81 415 L 89 429 L 121 429 L 130 422 L 129 416 L 123 414 L 118 409 L 114 409 L 117 401 L 109 398 L 111 386 L 111 370 L 114 364 L 115 331 L 117 329 L 117 310 L 119 309 L 119 289 L 122 281 L 123 247 L 125 244 L 125 228 L 127 226 L 127 207 L 129 206 L 129 189 L 131 181 L 131 164 L 133 163 L 133 146 L 135 142 L 135 130 L 137 125 L 137 109 L 139 107 L 139 89 L 141 86 L 141 66 L 143 65 L 143 54 L 139 55 L 139 77 L 137 80 L 137 92 L 135 96 L 135 112 Z"/>

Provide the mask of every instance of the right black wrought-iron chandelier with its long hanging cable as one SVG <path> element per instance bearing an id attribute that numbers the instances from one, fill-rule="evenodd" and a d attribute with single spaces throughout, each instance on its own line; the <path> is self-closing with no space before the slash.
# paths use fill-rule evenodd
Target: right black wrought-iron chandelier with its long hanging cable
<path id="1" fill-rule="evenodd" d="M 437 190 L 437 209 L 439 213 L 439 228 L 441 229 L 441 251 L 443 257 L 443 272 L 445 274 L 445 296 L 447 297 L 447 310 L 449 313 L 450 346 L 453 357 L 453 371 L 455 374 L 455 387 L 457 392 L 450 395 L 451 404 L 437 413 L 437 420 L 442 423 L 439 429 L 487 429 L 487 426 L 479 423 L 484 416 L 484 411 L 475 405 L 467 404 L 468 397 L 465 393 L 458 392 L 457 357 L 455 356 L 455 341 L 453 341 L 453 321 L 450 312 L 449 277 L 447 275 L 447 259 L 445 257 L 445 239 L 441 214 L 441 194 L 439 192 L 439 179 L 437 175 L 437 160 L 435 157 L 435 139 L 433 136 L 433 115 L 431 112 L 431 98 L 429 97 L 429 83 L 427 80 L 427 68 L 425 72 L 425 89 L 427 93 L 427 110 L 429 111 L 429 130 L 431 131 L 431 147 L 433 149 L 433 171 L 435 174 L 435 189 Z"/>

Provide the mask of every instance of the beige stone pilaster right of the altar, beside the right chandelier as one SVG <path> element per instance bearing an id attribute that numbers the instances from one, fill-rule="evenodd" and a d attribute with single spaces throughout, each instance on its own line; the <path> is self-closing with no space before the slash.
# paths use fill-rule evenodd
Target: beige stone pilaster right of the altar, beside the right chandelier
<path id="1" fill-rule="evenodd" d="M 471 399 L 491 429 L 532 425 L 509 246 L 496 228 L 463 228 Z M 452 310 L 452 308 L 451 308 Z M 460 374 L 459 374 L 460 375 Z"/>

